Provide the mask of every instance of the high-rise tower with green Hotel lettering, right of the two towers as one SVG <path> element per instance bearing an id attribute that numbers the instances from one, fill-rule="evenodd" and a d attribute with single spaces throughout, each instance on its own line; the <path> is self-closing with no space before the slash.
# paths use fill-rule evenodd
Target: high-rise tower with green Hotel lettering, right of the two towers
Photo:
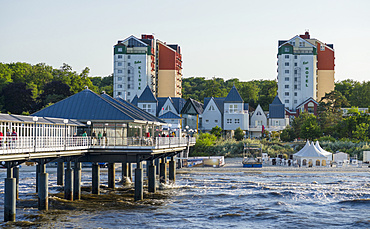
<path id="1" fill-rule="evenodd" d="M 334 48 L 311 38 L 309 32 L 279 40 L 278 96 L 294 110 L 312 97 L 319 101 L 334 90 Z"/>

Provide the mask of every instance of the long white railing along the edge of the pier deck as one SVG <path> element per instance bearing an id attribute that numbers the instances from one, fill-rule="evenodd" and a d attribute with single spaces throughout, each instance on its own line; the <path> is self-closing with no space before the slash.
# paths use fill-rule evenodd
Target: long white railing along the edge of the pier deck
<path id="1" fill-rule="evenodd" d="M 194 137 L 149 137 L 149 138 L 114 138 L 103 137 L 5 137 L 0 139 L 0 155 L 82 150 L 90 148 L 172 148 L 194 145 Z"/>

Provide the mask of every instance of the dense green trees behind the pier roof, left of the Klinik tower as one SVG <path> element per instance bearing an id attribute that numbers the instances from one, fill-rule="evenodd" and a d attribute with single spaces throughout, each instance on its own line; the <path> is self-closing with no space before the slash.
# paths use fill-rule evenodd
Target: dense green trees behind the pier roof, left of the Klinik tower
<path id="1" fill-rule="evenodd" d="M 13 114 L 33 113 L 84 90 L 85 86 L 95 92 L 101 88 L 112 92 L 112 76 L 95 77 L 97 86 L 94 86 L 88 77 L 89 71 L 86 67 L 77 73 L 67 64 L 54 69 L 44 63 L 0 63 L 0 110 Z"/>

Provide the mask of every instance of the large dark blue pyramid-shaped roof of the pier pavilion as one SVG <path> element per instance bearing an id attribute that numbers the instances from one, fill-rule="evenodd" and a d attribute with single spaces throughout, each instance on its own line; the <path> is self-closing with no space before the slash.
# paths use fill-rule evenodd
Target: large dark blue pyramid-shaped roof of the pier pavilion
<path id="1" fill-rule="evenodd" d="M 85 89 L 36 113 L 34 116 L 87 120 L 150 121 L 129 109 Z"/>

